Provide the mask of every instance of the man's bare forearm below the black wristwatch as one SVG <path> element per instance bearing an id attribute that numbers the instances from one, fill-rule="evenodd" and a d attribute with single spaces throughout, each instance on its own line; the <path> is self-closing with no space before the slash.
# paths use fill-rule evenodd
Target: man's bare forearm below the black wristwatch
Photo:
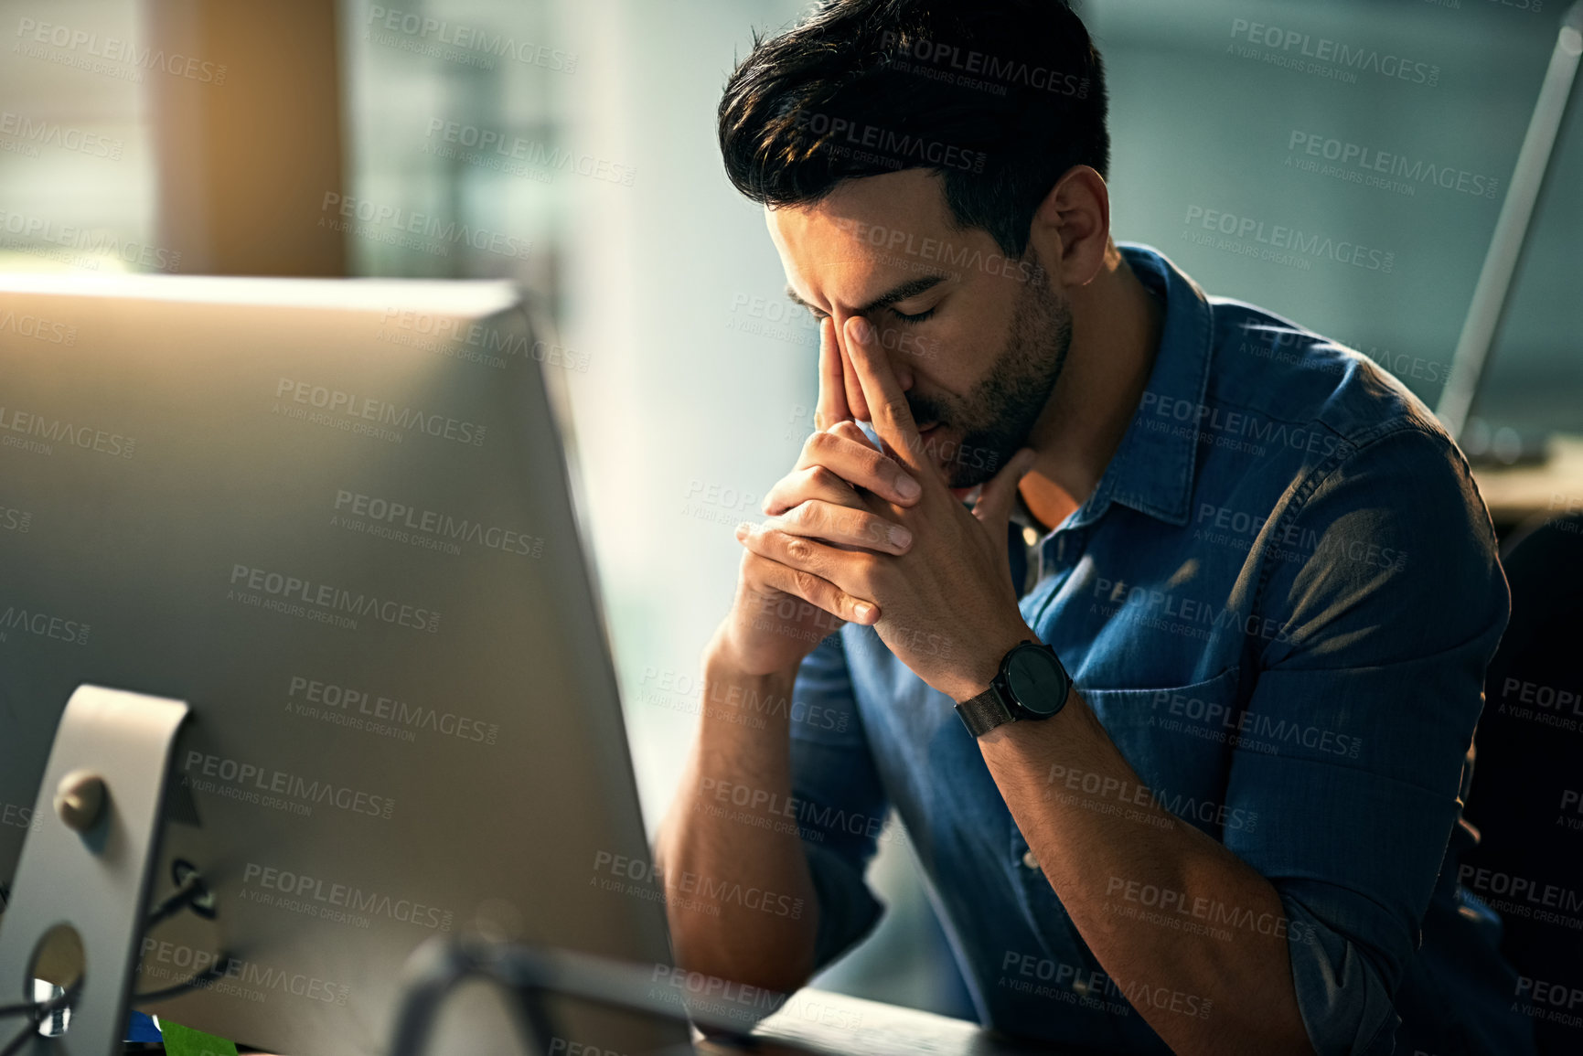
<path id="1" fill-rule="evenodd" d="M 1072 923 L 1173 1051 L 1312 1051 L 1287 948 L 1304 936 L 1289 934 L 1274 887 L 1138 795 L 1075 689 L 1054 719 L 999 727 L 980 747 Z"/>

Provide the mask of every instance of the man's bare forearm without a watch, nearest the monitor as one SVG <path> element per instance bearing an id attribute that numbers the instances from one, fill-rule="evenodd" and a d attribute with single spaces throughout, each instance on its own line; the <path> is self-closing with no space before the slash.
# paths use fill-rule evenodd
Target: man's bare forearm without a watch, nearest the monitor
<path id="1" fill-rule="evenodd" d="M 678 963 L 790 993 L 814 967 L 818 906 L 792 803 L 793 676 L 704 659 L 698 736 L 665 819 L 659 858 Z M 763 716 L 761 728 L 744 722 Z"/>

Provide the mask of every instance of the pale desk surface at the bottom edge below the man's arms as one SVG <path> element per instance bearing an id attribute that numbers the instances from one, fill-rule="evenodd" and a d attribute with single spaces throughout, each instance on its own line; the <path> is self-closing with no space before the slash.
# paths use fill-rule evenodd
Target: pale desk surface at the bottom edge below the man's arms
<path id="1" fill-rule="evenodd" d="M 975 1023 L 863 1001 L 825 990 L 799 990 L 754 1031 L 758 1045 L 701 1042 L 708 1056 L 1080 1056 L 1078 1050 L 997 1039 Z"/>

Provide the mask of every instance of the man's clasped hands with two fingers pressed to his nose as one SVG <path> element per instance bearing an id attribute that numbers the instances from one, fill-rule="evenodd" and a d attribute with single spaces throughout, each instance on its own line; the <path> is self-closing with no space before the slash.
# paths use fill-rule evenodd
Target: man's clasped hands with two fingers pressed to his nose
<path id="1" fill-rule="evenodd" d="M 1018 451 L 969 511 L 918 435 L 874 328 L 850 317 L 842 337 L 831 318 L 820 321 L 815 432 L 765 497 L 769 519 L 738 526 L 747 549 L 738 606 L 758 608 L 758 638 L 817 643 L 842 622 L 874 625 L 924 682 L 967 700 L 1012 646 L 1034 638 L 1007 562 L 1012 502 L 1034 453 Z M 882 446 L 853 421 L 848 386 Z M 804 619 L 785 619 L 788 602 Z M 796 659 L 812 648 L 803 646 Z"/>

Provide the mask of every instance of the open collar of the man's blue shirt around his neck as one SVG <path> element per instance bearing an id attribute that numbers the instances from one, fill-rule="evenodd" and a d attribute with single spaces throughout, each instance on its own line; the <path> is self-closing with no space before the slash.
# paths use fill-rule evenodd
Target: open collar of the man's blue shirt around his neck
<path id="1" fill-rule="evenodd" d="M 1201 408 L 1209 385 L 1214 320 L 1203 290 L 1170 260 L 1148 245 L 1118 249 L 1143 285 L 1165 299 L 1165 325 L 1149 385 L 1105 467 L 1099 486 L 1067 521 L 1081 527 L 1097 521 L 1111 502 L 1168 524 L 1187 524 L 1198 453 L 1198 415 L 1186 420 L 1160 415 L 1160 407 Z"/>

